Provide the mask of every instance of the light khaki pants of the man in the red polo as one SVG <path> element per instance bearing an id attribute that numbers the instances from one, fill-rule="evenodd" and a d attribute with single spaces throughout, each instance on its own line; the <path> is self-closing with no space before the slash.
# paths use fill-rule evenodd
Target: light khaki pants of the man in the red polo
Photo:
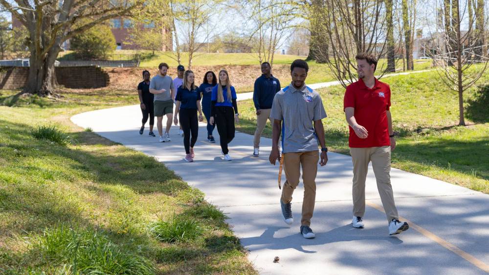
<path id="1" fill-rule="evenodd" d="M 368 163 L 372 161 L 378 194 L 382 201 L 387 221 L 399 219 L 391 185 L 391 147 L 350 148 L 353 160 L 353 215 L 365 214 L 365 179 Z"/>

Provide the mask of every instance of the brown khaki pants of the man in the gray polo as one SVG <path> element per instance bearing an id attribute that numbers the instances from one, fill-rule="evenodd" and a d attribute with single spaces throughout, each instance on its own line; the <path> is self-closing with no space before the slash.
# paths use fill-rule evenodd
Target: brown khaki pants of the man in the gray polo
<path id="1" fill-rule="evenodd" d="M 302 201 L 301 225 L 310 226 L 314 202 L 316 200 L 316 174 L 318 151 L 285 153 L 284 170 L 286 181 L 282 188 L 282 202 L 288 204 L 292 201 L 292 193 L 299 184 L 300 169 L 302 166 L 302 181 L 304 182 L 304 199 Z"/>

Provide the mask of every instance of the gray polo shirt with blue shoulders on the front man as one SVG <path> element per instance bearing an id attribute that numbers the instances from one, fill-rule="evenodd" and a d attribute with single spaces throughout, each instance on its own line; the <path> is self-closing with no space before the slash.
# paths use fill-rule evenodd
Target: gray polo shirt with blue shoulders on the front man
<path id="1" fill-rule="evenodd" d="M 282 120 L 282 152 L 297 153 L 318 150 L 312 121 L 326 117 L 319 93 L 304 85 L 292 84 L 275 94 L 270 117 Z"/>

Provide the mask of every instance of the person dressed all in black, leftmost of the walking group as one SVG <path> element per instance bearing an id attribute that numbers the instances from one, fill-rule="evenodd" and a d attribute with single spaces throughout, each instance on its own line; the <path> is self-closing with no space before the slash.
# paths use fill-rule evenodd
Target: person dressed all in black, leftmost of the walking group
<path id="1" fill-rule="evenodd" d="M 155 112 L 153 107 L 153 100 L 155 95 L 150 92 L 150 72 L 147 70 L 143 71 L 143 81 L 137 85 L 137 93 L 139 95 L 139 102 L 141 107 L 141 112 L 143 113 L 142 126 L 139 130 L 139 135 L 143 134 L 144 124 L 150 119 L 150 133 L 151 137 L 156 137 L 153 133 L 153 126 L 155 124 Z"/>

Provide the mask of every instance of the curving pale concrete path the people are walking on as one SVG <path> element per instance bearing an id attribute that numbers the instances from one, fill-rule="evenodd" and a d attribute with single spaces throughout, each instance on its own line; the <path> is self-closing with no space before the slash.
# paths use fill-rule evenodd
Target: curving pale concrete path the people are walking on
<path id="1" fill-rule="evenodd" d="M 200 124 L 195 162 L 184 162 L 178 127 L 172 141 L 157 142 L 138 134 L 138 105 L 75 115 L 77 125 L 156 157 L 229 216 L 249 260 L 261 274 L 444 274 L 489 272 L 489 195 L 424 176 L 392 169 L 396 204 L 411 229 L 389 236 L 375 178 L 367 180 L 365 229 L 353 229 L 352 162 L 328 153 L 317 175 L 317 196 L 311 228 L 315 239 L 299 234 L 302 183 L 295 191 L 295 221 L 281 218 L 278 167 L 267 158 L 271 140 L 263 138 L 261 156 L 251 157 L 253 137 L 237 133 L 230 144 L 232 161 L 224 161 L 217 143 L 206 140 Z M 215 131 L 215 137 L 219 135 Z M 285 176 L 282 177 L 285 181 Z M 273 263 L 275 256 L 280 263 Z"/>

